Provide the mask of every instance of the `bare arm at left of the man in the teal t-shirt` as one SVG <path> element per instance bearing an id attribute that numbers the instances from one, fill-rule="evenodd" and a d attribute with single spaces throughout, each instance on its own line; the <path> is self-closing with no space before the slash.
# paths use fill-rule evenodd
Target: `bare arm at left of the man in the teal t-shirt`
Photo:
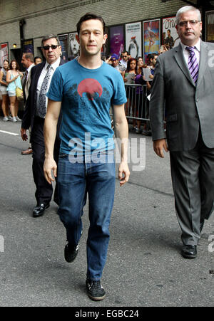
<path id="1" fill-rule="evenodd" d="M 51 184 L 54 178 L 51 175 L 53 171 L 56 177 L 56 162 L 54 161 L 54 142 L 56 139 L 56 127 L 58 116 L 61 110 L 61 102 L 56 102 L 49 99 L 48 110 L 46 113 L 46 120 L 44 122 L 44 142 L 46 147 L 45 162 L 44 162 L 44 176 L 46 181 Z"/>

